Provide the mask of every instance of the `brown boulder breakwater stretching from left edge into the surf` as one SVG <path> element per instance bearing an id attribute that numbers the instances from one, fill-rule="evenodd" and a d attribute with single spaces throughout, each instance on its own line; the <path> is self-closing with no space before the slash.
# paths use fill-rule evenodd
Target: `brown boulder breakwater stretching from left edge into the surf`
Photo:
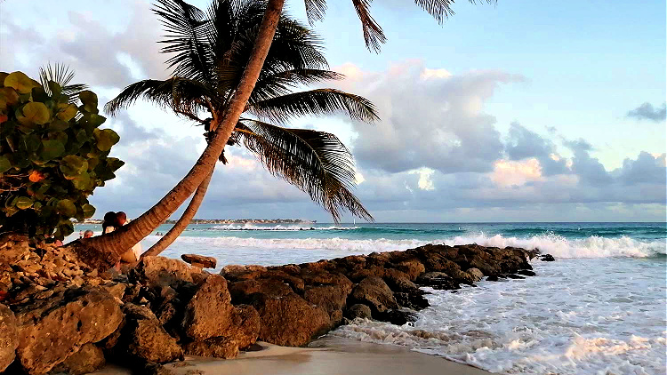
<path id="1" fill-rule="evenodd" d="M 429 286 L 534 275 L 539 251 L 425 245 L 278 267 L 149 257 L 99 273 L 67 247 L 0 237 L 0 371 L 84 374 L 105 363 L 170 373 L 184 355 L 234 358 L 257 340 L 303 347 L 355 318 L 403 324 Z M 543 257 L 547 260 L 547 257 Z M 551 258 L 552 259 L 552 258 Z"/>

